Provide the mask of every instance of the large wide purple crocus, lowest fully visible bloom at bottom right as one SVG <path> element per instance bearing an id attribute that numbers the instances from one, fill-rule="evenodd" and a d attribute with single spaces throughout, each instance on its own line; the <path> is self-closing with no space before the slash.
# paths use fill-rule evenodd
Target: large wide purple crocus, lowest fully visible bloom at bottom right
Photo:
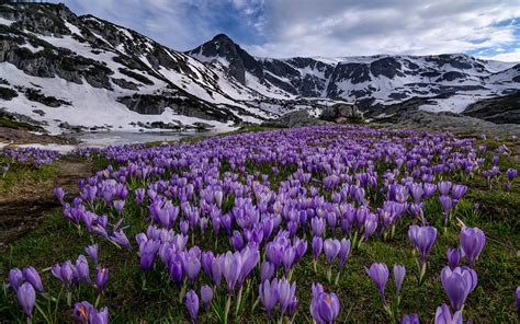
<path id="1" fill-rule="evenodd" d="M 441 280 L 451 305 L 455 311 L 459 311 L 470 292 L 475 289 L 477 274 L 467 267 L 456 267 L 452 270 L 446 266 L 441 271 Z"/>

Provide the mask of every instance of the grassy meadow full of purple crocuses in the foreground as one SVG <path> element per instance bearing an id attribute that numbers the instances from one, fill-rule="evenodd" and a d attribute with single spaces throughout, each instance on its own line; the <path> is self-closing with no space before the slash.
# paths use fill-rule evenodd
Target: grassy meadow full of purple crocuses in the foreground
<path id="1" fill-rule="evenodd" d="M 83 149 L 100 170 L 0 258 L 0 319 L 517 323 L 507 144 L 323 126 Z"/>

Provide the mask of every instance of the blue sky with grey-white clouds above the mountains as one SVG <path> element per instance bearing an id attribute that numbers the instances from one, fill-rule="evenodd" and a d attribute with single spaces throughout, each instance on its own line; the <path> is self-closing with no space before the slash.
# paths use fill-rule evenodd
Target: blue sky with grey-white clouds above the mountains
<path id="1" fill-rule="evenodd" d="M 257 56 L 466 53 L 520 61 L 519 0 L 61 0 L 178 50 L 225 33 Z"/>

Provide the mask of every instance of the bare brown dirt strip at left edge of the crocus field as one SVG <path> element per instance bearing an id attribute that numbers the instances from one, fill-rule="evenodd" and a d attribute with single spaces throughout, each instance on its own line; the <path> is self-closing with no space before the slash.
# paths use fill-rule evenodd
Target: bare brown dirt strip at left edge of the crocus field
<path id="1" fill-rule="evenodd" d="M 63 187 L 71 196 L 78 192 L 78 180 L 92 175 L 90 162 L 61 160 L 57 163 L 58 172 L 45 182 L 22 181 L 0 197 L 0 250 L 60 207 L 53 188 Z"/>

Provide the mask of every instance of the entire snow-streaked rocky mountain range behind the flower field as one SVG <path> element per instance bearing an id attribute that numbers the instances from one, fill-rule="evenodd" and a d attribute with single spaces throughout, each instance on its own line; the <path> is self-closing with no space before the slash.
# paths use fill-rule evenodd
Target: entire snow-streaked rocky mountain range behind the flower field
<path id="1" fill-rule="evenodd" d="M 0 4 L 0 109 L 56 134 L 226 129 L 338 101 L 519 123 L 519 91 L 520 63 L 463 54 L 259 58 L 223 34 L 182 53 L 64 4 Z"/>

